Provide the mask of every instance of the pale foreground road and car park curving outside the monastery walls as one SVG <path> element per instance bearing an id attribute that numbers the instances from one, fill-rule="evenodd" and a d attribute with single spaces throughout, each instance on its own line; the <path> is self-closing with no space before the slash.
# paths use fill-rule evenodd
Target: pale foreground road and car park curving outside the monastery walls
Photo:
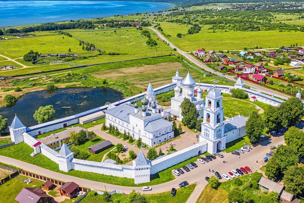
<path id="1" fill-rule="evenodd" d="M 212 172 L 209 172 L 209 169 L 214 169 L 215 171 L 219 171 L 219 173 L 222 174 L 222 173 L 227 173 L 228 171 L 230 171 L 231 169 L 235 169 L 236 167 L 239 168 L 242 166 L 249 166 L 252 167 L 253 171 L 256 171 L 264 164 L 262 162 L 263 157 L 265 157 L 265 154 L 270 151 L 269 146 L 271 145 L 277 146 L 278 144 L 282 144 L 282 143 L 284 143 L 283 136 L 273 137 L 269 141 L 262 142 L 261 145 L 253 148 L 252 151 L 245 152 L 245 154 L 241 154 L 240 158 L 238 158 L 236 155 L 232 155 L 231 153 L 223 153 L 224 158 L 217 158 L 216 160 L 213 160 L 212 162 L 206 164 L 197 163 L 198 167 L 194 168 L 190 172 L 185 172 L 185 174 L 177 176 L 176 179 L 173 181 L 160 185 L 153 185 L 152 191 L 146 191 L 144 193 L 152 194 L 152 193 L 169 191 L 172 187 L 178 188 L 178 184 L 181 183 L 182 181 L 188 181 L 189 184 L 199 185 L 196 187 L 196 189 L 194 190 L 188 201 L 194 203 L 197 200 L 198 196 L 201 194 L 203 187 L 207 184 L 204 178 L 206 176 L 211 176 L 214 174 Z M 227 160 L 228 163 L 223 163 L 223 160 Z M 258 161 L 258 163 L 256 163 L 256 161 Z M 136 191 L 141 191 L 141 187 L 126 187 L 126 186 L 111 185 L 111 184 L 104 184 L 96 181 L 90 181 L 82 178 L 77 178 L 74 176 L 57 173 L 39 166 L 34 166 L 4 156 L 0 156 L 0 162 L 17 166 L 24 170 L 31 171 L 33 173 L 51 177 L 54 179 L 58 179 L 64 182 L 74 181 L 83 187 L 91 187 L 97 190 L 104 191 L 106 187 L 107 191 L 112 191 L 114 189 L 123 190 L 125 193 L 129 193 L 133 189 L 135 189 Z M 149 185 L 149 183 L 147 185 Z"/>

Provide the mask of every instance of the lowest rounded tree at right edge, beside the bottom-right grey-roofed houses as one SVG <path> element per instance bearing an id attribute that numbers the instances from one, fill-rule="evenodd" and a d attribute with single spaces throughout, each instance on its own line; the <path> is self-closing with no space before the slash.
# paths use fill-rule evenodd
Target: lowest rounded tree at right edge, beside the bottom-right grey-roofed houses
<path id="1" fill-rule="evenodd" d="M 289 166 L 284 174 L 284 185 L 287 192 L 299 195 L 304 192 L 304 167 Z"/>

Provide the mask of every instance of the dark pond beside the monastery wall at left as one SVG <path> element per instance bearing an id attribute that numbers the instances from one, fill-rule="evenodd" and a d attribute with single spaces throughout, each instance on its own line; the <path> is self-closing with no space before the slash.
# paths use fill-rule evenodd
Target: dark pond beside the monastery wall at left
<path id="1" fill-rule="evenodd" d="M 15 113 L 27 127 L 38 124 L 33 115 L 40 106 L 53 105 L 54 118 L 63 118 L 123 99 L 123 94 L 111 88 L 66 88 L 38 91 L 23 95 L 15 104 L 0 109 L 0 115 L 11 125 Z M 8 129 L 6 129 L 8 132 Z"/>

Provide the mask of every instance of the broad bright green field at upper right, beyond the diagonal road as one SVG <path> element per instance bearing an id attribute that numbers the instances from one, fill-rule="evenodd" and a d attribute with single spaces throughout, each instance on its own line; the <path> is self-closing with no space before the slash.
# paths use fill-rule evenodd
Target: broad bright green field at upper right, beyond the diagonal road
<path id="1" fill-rule="evenodd" d="M 186 34 L 190 25 L 159 22 L 169 41 L 183 51 L 195 51 L 204 48 L 205 50 L 243 50 L 244 47 L 250 49 L 254 46 L 262 48 L 274 48 L 279 46 L 289 46 L 298 43 L 304 45 L 299 40 L 304 37 L 304 32 L 279 32 L 279 31 L 259 31 L 259 32 L 216 32 L 207 30 L 208 25 L 204 25 L 202 31 L 193 35 L 176 37 L 177 33 Z"/>

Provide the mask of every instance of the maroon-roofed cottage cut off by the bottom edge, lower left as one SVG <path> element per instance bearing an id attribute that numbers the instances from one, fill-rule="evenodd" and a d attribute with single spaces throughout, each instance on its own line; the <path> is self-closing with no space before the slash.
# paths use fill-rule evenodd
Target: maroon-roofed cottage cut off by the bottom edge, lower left
<path id="1" fill-rule="evenodd" d="M 53 198 L 45 194 L 43 189 L 24 187 L 17 195 L 17 203 L 51 203 Z"/>

